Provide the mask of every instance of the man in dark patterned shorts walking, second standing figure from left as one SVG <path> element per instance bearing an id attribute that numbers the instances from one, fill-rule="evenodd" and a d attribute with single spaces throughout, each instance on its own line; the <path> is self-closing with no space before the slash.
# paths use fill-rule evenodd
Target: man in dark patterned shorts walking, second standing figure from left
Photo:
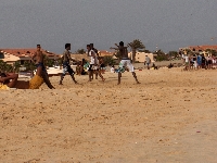
<path id="1" fill-rule="evenodd" d="M 63 78 L 67 72 L 71 75 L 73 82 L 77 84 L 74 76 L 75 72 L 73 71 L 69 64 L 72 60 L 69 50 L 71 50 L 71 43 L 65 43 L 65 51 L 63 52 L 63 74 L 61 75 L 60 85 L 63 85 Z"/>

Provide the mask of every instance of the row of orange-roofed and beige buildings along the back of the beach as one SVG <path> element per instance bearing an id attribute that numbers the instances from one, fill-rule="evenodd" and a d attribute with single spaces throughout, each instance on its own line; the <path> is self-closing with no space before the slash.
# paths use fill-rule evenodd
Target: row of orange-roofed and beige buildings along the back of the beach
<path id="1" fill-rule="evenodd" d="M 180 51 L 183 51 L 184 54 L 188 53 L 188 51 L 192 51 L 195 53 L 201 53 L 201 54 L 209 54 L 210 50 L 217 51 L 217 46 L 190 46 L 190 47 L 184 47 L 184 48 L 179 48 Z M 209 51 L 208 51 L 209 50 Z M 0 49 L 0 60 L 3 60 L 8 64 L 13 64 L 16 61 L 18 61 L 21 64 L 24 64 L 24 62 L 31 62 L 31 55 L 35 53 L 36 49 Z M 42 53 L 48 57 L 48 59 L 51 60 L 58 60 L 62 55 L 56 54 L 54 52 L 50 52 L 48 50 L 41 49 Z M 106 50 L 101 50 L 99 51 L 100 57 L 105 57 L 110 55 L 113 57 L 113 59 L 116 59 L 114 57 L 115 52 L 106 51 Z M 129 58 L 131 59 L 132 53 L 129 52 Z M 136 54 L 136 62 L 144 62 L 145 55 L 148 55 L 152 62 L 154 62 L 154 54 L 153 53 L 145 53 L 145 52 L 137 52 Z M 72 58 L 75 59 L 75 61 L 80 61 L 82 58 L 88 59 L 87 54 L 73 54 Z"/>

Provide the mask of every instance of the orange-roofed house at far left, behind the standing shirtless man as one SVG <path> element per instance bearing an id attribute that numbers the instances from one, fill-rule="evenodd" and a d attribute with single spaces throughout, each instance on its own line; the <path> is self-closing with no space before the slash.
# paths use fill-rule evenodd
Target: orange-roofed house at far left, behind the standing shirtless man
<path id="1" fill-rule="evenodd" d="M 59 59 L 59 55 L 48 50 L 41 49 L 42 53 L 51 60 Z M 25 61 L 31 62 L 31 55 L 36 52 L 36 49 L 0 49 L 0 60 L 3 60 L 8 64 L 13 64 L 20 61 L 24 64 Z"/>

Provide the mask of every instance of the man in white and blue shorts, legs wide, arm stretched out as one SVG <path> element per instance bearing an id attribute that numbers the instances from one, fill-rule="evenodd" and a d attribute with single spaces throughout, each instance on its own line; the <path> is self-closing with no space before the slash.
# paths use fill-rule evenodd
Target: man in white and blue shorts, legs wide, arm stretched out
<path id="1" fill-rule="evenodd" d="M 119 46 L 118 46 L 117 43 L 115 43 L 115 46 L 116 46 L 117 48 L 112 48 L 112 47 L 111 47 L 110 49 L 118 50 L 118 51 L 119 51 L 119 54 L 120 54 L 120 59 L 122 59 L 120 62 L 119 62 L 119 67 L 118 67 L 119 71 L 118 71 L 118 83 L 117 83 L 117 85 L 120 84 L 120 77 L 122 77 L 122 72 L 120 72 L 120 70 L 122 70 L 125 65 L 127 65 L 129 72 L 132 73 L 132 76 L 135 77 L 137 84 L 140 84 L 139 80 L 137 79 L 137 75 L 136 75 L 136 73 L 135 73 L 135 67 L 133 67 L 133 65 L 131 64 L 130 59 L 128 58 L 128 50 L 127 50 L 128 47 L 124 47 L 124 42 L 123 42 L 123 41 L 119 42 Z"/>

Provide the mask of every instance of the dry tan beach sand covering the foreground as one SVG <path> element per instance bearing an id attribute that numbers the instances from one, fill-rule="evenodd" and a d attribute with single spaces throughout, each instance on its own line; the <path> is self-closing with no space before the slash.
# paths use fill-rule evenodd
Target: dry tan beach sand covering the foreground
<path id="1" fill-rule="evenodd" d="M 216 163 L 216 70 L 51 77 L 0 92 L 1 163 Z"/>

